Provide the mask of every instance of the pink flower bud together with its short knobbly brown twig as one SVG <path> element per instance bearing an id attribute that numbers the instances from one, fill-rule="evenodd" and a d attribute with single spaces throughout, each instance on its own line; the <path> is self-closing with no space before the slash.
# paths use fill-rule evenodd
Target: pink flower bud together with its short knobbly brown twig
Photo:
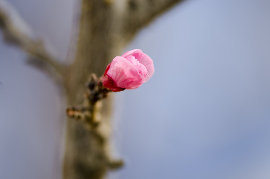
<path id="1" fill-rule="evenodd" d="M 96 103 L 110 91 L 136 89 L 147 82 L 154 74 L 153 60 L 140 49 L 134 49 L 115 57 L 99 79 L 91 74 L 86 83 L 84 105 L 67 108 L 67 115 L 83 120 L 91 127 L 99 123 Z"/>

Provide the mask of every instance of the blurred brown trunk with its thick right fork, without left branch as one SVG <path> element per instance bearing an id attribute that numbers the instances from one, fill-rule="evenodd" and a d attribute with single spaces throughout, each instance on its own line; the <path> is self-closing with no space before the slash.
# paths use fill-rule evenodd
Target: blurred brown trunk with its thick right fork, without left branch
<path id="1" fill-rule="evenodd" d="M 82 0 L 76 55 L 64 79 L 68 105 L 82 104 L 88 76 L 95 73 L 100 77 L 141 27 L 179 1 Z M 102 117 L 96 127 L 105 136 L 102 142 L 83 121 L 68 119 L 64 179 L 104 179 L 108 169 L 122 165 L 108 163 L 108 159 L 113 161 L 109 150 L 111 101 L 102 102 Z M 78 111 L 68 112 L 77 115 Z"/>

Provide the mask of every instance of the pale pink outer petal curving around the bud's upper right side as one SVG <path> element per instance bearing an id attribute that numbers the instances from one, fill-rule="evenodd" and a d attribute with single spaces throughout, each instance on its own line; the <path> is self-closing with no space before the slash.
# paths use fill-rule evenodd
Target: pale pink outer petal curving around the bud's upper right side
<path id="1" fill-rule="evenodd" d="M 121 57 L 127 56 L 134 56 L 141 64 L 145 66 L 147 69 L 147 77 L 145 78 L 145 82 L 147 82 L 153 76 L 155 71 L 153 60 L 140 49 L 130 50 L 124 53 Z"/>

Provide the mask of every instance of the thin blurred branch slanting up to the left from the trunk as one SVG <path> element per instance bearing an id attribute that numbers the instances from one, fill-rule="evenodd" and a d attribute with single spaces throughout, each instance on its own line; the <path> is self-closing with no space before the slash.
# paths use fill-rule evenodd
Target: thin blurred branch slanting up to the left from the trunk
<path id="1" fill-rule="evenodd" d="M 66 66 L 46 50 L 42 41 L 34 37 L 31 28 L 17 11 L 4 0 L 0 0 L 0 29 L 7 43 L 21 48 L 31 56 L 28 59 L 29 64 L 57 79 L 59 75 L 63 75 Z"/>

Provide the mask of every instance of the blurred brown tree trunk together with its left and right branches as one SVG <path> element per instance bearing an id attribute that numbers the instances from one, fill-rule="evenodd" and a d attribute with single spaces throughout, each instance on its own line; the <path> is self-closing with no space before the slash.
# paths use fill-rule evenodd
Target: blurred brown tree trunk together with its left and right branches
<path id="1" fill-rule="evenodd" d="M 131 40 L 130 37 L 179 1 L 81 0 L 77 49 L 74 62 L 69 67 L 59 63 L 46 51 L 43 43 L 33 37 L 31 29 L 18 13 L 3 0 L 0 0 L 0 28 L 6 42 L 31 55 L 28 60 L 30 64 L 54 77 L 55 74 L 62 75 L 67 102 L 76 105 L 84 102 L 82 94 L 85 93 L 88 75 L 95 73 L 98 77 L 102 76 L 107 64 L 116 55 L 120 55 L 122 48 Z M 83 121 L 68 119 L 64 179 L 104 179 L 106 171 L 123 165 L 122 161 L 114 161 L 110 155 L 111 98 L 99 102 L 98 114 L 102 118 L 94 131 L 88 130 Z M 67 112 L 71 117 L 96 124 L 92 115 L 98 117 L 97 112 L 93 113 L 97 109 L 91 109 L 90 105 L 88 107 L 88 110 L 69 108 Z M 91 104 L 91 107 L 97 106 Z"/>

